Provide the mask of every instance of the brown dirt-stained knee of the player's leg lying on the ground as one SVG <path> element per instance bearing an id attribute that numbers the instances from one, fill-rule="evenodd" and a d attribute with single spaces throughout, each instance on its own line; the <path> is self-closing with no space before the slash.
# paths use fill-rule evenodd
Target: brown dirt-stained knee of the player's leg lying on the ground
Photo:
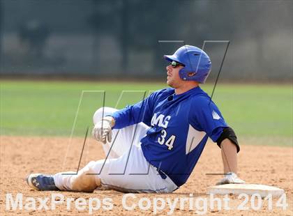
<path id="1" fill-rule="evenodd" d="M 100 178 L 93 170 L 91 163 L 78 171 L 76 176 L 73 176 L 71 188 L 74 191 L 93 192 L 96 187 L 100 186 Z"/>

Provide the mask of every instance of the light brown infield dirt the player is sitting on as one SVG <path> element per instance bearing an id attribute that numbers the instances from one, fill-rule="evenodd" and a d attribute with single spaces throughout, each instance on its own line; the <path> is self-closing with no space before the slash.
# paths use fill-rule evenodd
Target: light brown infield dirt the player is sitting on
<path id="1" fill-rule="evenodd" d="M 74 138 L 68 148 L 68 138 L 56 137 L 1 137 L 1 196 L 0 215 L 89 215 L 89 211 L 66 209 L 66 204 L 58 205 L 55 210 L 6 210 L 6 194 L 13 197 L 17 193 L 27 197 L 51 197 L 53 192 L 38 192 L 31 189 L 25 178 L 29 173 L 56 173 L 76 169 L 82 150 L 82 138 Z M 64 155 L 68 154 L 64 162 Z M 81 167 L 91 160 L 103 159 L 102 146 L 92 139 L 87 141 L 82 156 Z M 293 148 L 275 146 L 249 146 L 241 145 L 239 153 L 239 176 L 246 183 L 272 185 L 285 190 L 288 207 L 283 210 L 276 207 L 273 199 L 273 209 L 268 209 L 268 202 L 262 199 L 264 205 L 260 210 L 252 210 L 250 201 L 246 204 L 249 210 L 236 210 L 243 202 L 237 196 L 230 195 L 230 208 L 232 210 L 211 210 L 208 208 L 206 215 L 293 215 Z M 63 163 L 64 162 L 64 163 Z M 63 170 L 61 170 L 63 169 Z M 208 197 L 206 188 L 214 185 L 222 176 L 209 176 L 206 173 L 222 173 L 223 165 L 220 157 L 220 149 L 216 144 L 208 142 L 188 182 L 172 194 L 135 194 L 137 201 L 142 197 L 153 200 L 155 197 L 163 199 L 176 197 L 189 197 L 193 194 L 197 197 Z M 153 208 L 149 210 L 130 211 L 123 208 L 121 199 L 123 193 L 113 190 L 95 190 L 93 193 L 59 192 L 67 198 L 88 200 L 92 198 L 103 199 L 109 197 L 114 205 L 112 210 L 95 210 L 93 215 L 153 215 Z M 220 196 L 219 196 L 220 197 Z M 137 203 L 137 202 L 136 202 Z M 48 206 L 50 203 L 47 203 Z M 169 208 L 158 211 L 157 215 L 167 215 Z M 195 215 L 195 210 L 175 208 L 173 215 Z"/>

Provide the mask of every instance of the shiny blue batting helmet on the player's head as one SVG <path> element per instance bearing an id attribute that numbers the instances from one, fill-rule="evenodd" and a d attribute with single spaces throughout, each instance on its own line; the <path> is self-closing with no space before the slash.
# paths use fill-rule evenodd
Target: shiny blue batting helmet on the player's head
<path id="1" fill-rule="evenodd" d="M 211 59 L 198 47 L 184 45 L 173 55 L 164 55 L 164 58 L 167 61 L 176 61 L 184 65 L 184 68 L 179 70 L 179 76 L 183 80 L 204 83 L 211 71 Z"/>

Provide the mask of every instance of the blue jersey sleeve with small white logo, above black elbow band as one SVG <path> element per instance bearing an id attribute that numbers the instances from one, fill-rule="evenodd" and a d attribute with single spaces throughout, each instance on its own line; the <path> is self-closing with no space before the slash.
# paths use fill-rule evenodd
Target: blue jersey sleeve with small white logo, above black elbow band
<path id="1" fill-rule="evenodd" d="M 228 125 L 218 107 L 207 97 L 198 97 L 193 100 L 190 108 L 190 125 L 196 130 L 204 131 L 216 142 Z"/>

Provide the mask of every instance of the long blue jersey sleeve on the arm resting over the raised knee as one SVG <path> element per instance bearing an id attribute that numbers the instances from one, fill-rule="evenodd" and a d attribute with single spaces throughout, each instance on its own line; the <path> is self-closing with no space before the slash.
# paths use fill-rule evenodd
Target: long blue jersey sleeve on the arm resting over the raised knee
<path id="1" fill-rule="evenodd" d="M 125 128 L 140 122 L 150 126 L 157 95 L 158 92 L 154 92 L 141 102 L 114 112 L 111 115 L 115 119 L 114 129 Z"/>

